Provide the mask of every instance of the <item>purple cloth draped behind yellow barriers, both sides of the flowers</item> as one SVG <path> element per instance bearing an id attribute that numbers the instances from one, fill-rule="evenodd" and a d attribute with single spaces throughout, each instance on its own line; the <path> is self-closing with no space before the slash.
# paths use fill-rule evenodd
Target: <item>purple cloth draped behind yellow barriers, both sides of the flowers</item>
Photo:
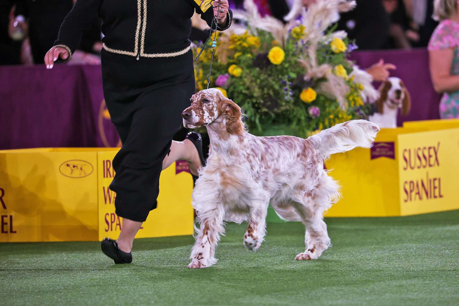
<path id="1" fill-rule="evenodd" d="M 432 88 L 426 50 L 361 51 L 352 59 L 366 68 L 384 59 L 397 66 L 412 98 L 403 121 L 438 118 L 440 96 Z M 119 145 L 102 93 L 100 66 L 0 67 L 0 149 Z"/>

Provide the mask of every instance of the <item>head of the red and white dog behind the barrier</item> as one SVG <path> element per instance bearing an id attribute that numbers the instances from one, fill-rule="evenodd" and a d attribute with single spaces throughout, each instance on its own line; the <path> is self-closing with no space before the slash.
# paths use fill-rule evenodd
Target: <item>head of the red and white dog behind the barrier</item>
<path id="1" fill-rule="evenodd" d="M 384 103 L 390 108 L 402 108 L 402 114 L 408 115 L 411 108 L 409 92 L 399 78 L 388 78 L 379 88 L 380 98 L 376 101 L 378 111 L 382 114 Z"/>

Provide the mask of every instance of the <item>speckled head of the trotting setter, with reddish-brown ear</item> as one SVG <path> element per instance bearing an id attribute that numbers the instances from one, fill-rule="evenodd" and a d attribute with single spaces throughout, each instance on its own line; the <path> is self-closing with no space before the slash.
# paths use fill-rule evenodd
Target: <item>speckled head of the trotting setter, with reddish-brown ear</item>
<path id="1" fill-rule="evenodd" d="M 241 108 L 218 89 L 204 89 L 191 97 L 191 106 L 182 112 L 185 128 L 199 128 L 212 122 L 225 122 L 229 134 L 242 134 Z"/>

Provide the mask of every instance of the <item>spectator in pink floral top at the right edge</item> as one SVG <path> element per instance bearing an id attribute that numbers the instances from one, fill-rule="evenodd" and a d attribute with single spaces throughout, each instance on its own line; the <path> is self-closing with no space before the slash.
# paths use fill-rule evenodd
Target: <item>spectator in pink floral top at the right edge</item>
<path id="1" fill-rule="evenodd" d="M 434 17 L 440 24 L 429 42 L 435 91 L 443 93 L 441 118 L 459 118 L 459 5 L 458 0 L 435 0 Z"/>

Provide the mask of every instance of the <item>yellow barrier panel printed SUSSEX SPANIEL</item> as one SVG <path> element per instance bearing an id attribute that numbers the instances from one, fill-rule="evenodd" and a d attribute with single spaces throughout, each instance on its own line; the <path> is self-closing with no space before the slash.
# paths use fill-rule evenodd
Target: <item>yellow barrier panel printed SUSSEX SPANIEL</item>
<path id="1" fill-rule="evenodd" d="M 459 128 L 398 135 L 401 215 L 459 208 Z"/>

